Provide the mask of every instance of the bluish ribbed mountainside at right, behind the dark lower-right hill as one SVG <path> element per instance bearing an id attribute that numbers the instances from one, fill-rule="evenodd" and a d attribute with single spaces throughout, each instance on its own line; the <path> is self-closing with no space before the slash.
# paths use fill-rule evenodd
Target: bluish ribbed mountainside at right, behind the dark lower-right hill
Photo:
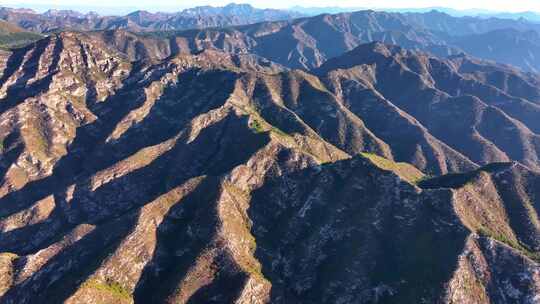
<path id="1" fill-rule="evenodd" d="M 400 161 L 423 168 L 417 153 L 436 138 L 477 164 L 518 160 L 540 168 L 533 76 L 381 43 L 329 60 L 316 73 Z M 399 127 L 380 117 L 392 117 Z"/>

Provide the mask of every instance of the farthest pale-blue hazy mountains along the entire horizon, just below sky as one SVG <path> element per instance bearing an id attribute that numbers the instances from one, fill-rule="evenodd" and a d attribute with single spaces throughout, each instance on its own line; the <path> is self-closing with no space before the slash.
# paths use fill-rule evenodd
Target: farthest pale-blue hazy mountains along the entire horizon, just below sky
<path id="1" fill-rule="evenodd" d="M 290 10 L 276 10 L 257 9 L 248 4 L 231 3 L 224 7 L 200 6 L 179 12 L 148 12 L 140 10 L 131 12 L 125 16 L 101 16 L 96 12 L 80 13 L 74 10 L 49 9 L 43 13 L 37 13 L 31 9 L 3 7 L 0 8 L 0 19 L 26 30 L 39 33 L 59 30 L 90 31 L 112 29 L 141 32 L 238 26 L 360 10 L 365 9 L 356 7 L 296 6 Z M 497 13 L 485 10 L 459 11 L 444 7 L 385 9 L 384 11 L 402 14 L 433 14 L 440 12 L 453 17 L 474 16 L 475 18 L 489 19 L 492 23 L 503 23 L 504 19 L 512 19 L 517 22 L 540 22 L 540 16 L 533 12 Z M 474 22 L 472 19 L 469 21 Z"/>

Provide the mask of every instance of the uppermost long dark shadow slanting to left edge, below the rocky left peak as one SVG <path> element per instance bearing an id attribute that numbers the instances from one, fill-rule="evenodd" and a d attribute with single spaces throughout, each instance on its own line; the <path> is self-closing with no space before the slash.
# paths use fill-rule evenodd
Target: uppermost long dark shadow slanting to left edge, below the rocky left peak
<path id="1" fill-rule="evenodd" d="M 182 74 L 183 79 L 178 87 L 166 90 L 163 97 L 156 101 L 150 113 L 137 124 L 136 128 L 130 128 L 118 140 L 107 141 L 118 123 L 132 110 L 142 106 L 144 102 L 144 89 L 150 83 L 144 82 L 145 85 L 142 87 L 138 83 L 143 81 L 139 79 L 143 77 L 139 73 L 142 68 L 142 66 L 135 66 L 126 80 L 131 85 L 124 86 L 106 101 L 99 103 L 87 101 L 88 104 L 94 104 L 90 110 L 98 119 L 77 129 L 68 154 L 57 162 L 51 176 L 30 182 L 21 190 L 2 197 L 0 204 L 3 204 L 5 208 L 0 210 L 0 217 L 28 208 L 30 204 L 65 189 L 77 180 L 88 178 L 144 147 L 156 145 L 174 137 L 197 115 L 221 106 L 226 99 L 225 95 L 232 92 L 234 88 L 235 79 L 230 73 L 208 73 L 201 79 L 198 71 L 186 72 Z M 161 77 L 166 72 L 167 70 L 157 70 L 156 73 L 159 74 L 149 78 Z M 190 104 L 192 102 L 190 98 L 201 98 L 201 94 L 195 94 L 193 91 L 186 92 L 188 92 L 187 88 L 196 81 L 220 82 L 218 82 L 219 88 L 208 89 L 207 94 L 203 95 L 203 97 L 208 97 L 207 100 L 193 105 Z M 182 92 L 186 96 L 178 97 Z M 175 96 L 180 102 L 174 101 Z M 189 111 L 186 110 L 188 107 L 190 107 Z"/>

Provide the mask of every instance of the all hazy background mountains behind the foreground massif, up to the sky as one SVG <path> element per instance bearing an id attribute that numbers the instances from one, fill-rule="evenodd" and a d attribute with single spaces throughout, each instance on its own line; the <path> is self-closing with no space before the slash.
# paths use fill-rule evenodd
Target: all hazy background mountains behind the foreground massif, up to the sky
<path id="1" fill-rule="evenodd" d="M 440 11 L 370 10 L 301 16 L 239 4 L 196 7 L 179 13 L 136 11 L 122 17 L 71 10 L 37 14 L 26 9 L 2 8 L 0 19 L 20 29 L 19 32 L 26 32 L 0 39 L 4 47 L 15 47 L 41 37 L 28 31 L 93 31 L 96 39 L 103 39 L 134 60 L 163 59 L 214 48 L 249 52 L 302 69 L 319 67 L 361 43 L 381 41 L 442 57 L 467 53 L 524 71 L 540 71 L 540 24 L 525 19 L 454 17 Z"/>

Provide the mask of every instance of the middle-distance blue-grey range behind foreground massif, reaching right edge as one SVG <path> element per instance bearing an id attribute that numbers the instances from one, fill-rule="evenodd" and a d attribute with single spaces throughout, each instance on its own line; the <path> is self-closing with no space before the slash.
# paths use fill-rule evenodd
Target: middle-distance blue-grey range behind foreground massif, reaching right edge
<path id="1" fill-rule="evenodd" d="M 328 59 L 373 41 L 446 57 L 467 53 L 540 70 L 540 24 L 524 20 L 453 17 L 441 12 L 359 11 L 227 28 L 165 32 L 124 30 L 90 33 L 133 60 L 218 49 L 252 53 L 292 68 L 311 70 Z"/>

